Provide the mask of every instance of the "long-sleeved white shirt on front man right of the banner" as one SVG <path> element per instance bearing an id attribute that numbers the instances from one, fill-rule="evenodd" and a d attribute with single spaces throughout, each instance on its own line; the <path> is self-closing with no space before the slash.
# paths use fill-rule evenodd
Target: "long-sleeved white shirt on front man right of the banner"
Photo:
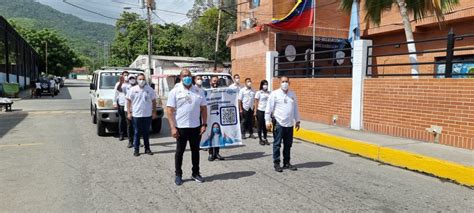
<path id="1" fill-rule="evenodd" d="M 265 109 L 265 121 L 267 124 L 272 122 L 272 113 L 276 121 L 283 127 L 293 127 L 295 122 L 300 121 L 295 93 L 292 91 L 285 93 L 282 89 L 277 89 L 270 93 L 267 108 Z"/>

